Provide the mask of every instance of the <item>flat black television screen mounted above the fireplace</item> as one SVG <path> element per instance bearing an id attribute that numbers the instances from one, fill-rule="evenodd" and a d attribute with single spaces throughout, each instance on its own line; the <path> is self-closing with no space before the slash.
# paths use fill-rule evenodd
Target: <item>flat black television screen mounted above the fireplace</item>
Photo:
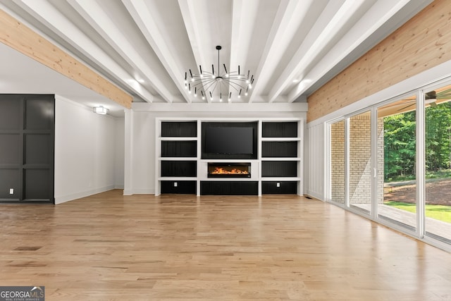
<path id="1" fill-rule="evenodd" d="M 254 129 L 250 127 L 206 128 L 204 150 L 208 154 L 253 154 Z"/>

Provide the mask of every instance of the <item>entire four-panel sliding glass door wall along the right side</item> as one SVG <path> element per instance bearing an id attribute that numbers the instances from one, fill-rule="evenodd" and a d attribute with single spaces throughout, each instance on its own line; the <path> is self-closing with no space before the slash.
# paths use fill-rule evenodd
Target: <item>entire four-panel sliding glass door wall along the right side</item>
<path id="1" fill-rule="evenodd" d="M 330 201 L 451 245 L 451 85 L 416 90 L 328 129 Z"/>

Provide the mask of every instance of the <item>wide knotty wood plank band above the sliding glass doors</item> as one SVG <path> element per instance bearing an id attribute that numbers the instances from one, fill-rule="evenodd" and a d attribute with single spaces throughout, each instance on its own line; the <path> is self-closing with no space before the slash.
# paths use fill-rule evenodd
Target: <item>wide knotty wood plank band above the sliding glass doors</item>
<path id="1" fill-rule="evenodd" d="M 451 1 L 435 0 L 307 98 L 307 122 L 451 59 Z"/>

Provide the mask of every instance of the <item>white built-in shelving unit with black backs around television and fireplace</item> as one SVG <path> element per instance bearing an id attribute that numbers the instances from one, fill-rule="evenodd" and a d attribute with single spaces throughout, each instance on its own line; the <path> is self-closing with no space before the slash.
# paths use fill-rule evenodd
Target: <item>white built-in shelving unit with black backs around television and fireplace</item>
<path id="1" fill-rule="evenodd" d="M 254 128 L 254 155 L 206 155 L 202 140 L 211 123 Z M 157 118 L 155 195 L 302 195 L 301 118 Z M 245 177 L 211 177 L 211 162 L 246 165 Z"/>

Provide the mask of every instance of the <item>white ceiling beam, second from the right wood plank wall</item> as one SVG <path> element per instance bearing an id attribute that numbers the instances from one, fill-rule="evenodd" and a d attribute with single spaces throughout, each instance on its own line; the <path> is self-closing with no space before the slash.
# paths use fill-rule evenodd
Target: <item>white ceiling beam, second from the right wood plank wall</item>
<path id="1" fill-rule="evenodd" d="M 287 68 L 283 70 L 276 84 L 273 85 L 268 94 L 269 102 L 273 102 L 288 85 L 292 85 L 293 80 L 304 78 L 304 73 L 307 73 L 307 68 L 311 62 L 327 47 L 330 39 L 334 39 L 336 35 L 340 34 L 342 27 L 350 22 L 354 13 L 365 4 L 365 1 L 367 0 L 346 0 L 340 7 L 337 7 L 337 1 L 329 2 L 302 42 L 301 47 L 297 49 L 290 63 L 288 63 Z"/>

